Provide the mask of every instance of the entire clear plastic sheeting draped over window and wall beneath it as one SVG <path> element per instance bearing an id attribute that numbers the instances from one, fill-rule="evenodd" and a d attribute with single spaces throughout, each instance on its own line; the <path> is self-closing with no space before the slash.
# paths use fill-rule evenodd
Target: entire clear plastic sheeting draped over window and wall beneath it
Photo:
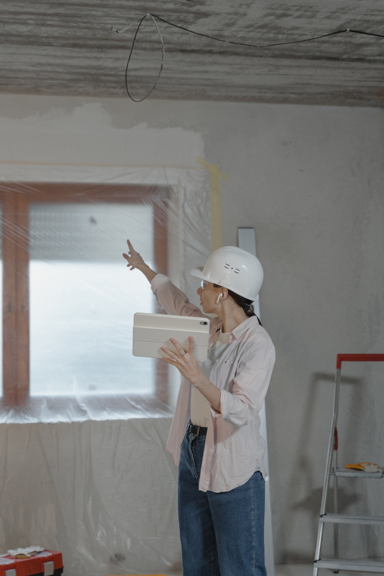
<path id="1" fill-rule="evenodd" d="M 0 184 L 0 554 L 36 544 L 67 576 L 180 570 L 177 468 L 165 451 L 180 376 L 132 355 L 135 312 L 164 312 L 127 238 L 199 304 L 211 248 L 204 170 Z M 27 180 L 27 179 L 26 179 Z"/>

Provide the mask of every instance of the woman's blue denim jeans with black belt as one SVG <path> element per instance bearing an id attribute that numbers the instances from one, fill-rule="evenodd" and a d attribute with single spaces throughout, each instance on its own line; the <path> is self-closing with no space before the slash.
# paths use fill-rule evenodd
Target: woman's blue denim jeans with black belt
<path id="1" fill-rule="evenodd" d="M 206 436 L 185 434 L 178 465 L 178 524 L 183 576 L 267 576 L 265 482 L 261 472 L 229 492 L 202 492 Z"/>

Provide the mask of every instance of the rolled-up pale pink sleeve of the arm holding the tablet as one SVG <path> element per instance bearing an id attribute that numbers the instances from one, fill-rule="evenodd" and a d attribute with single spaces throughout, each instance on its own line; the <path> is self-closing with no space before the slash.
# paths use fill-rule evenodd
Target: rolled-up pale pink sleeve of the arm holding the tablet
<path id="1" fill-rule="evenodd" d="M 275 347 L 267 335 L 247 339 L 232 391 L 220 388 L 220 412 L 211 409 L 214 418 L 222 418 L 235 428 L 249 424 L 263 406 L 274 363 Z"/>

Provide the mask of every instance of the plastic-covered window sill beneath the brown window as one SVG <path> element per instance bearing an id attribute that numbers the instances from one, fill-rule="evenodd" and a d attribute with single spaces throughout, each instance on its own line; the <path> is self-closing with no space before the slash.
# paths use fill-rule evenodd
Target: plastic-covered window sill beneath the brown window
<path id="1" fill-rule="evenodd" d="M 0 400 L 0 423 L 86 422 L 172 418 L 173 410 L 149 395 L 32 396 L 23 406 Z"/>

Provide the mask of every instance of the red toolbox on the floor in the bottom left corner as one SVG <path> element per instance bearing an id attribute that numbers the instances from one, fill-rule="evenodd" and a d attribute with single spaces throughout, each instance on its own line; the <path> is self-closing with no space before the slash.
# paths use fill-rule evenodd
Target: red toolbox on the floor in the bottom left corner
<path id="1" fill-rule="evenodd" d="M 0 556 L 0 576 L 59 576 L 63 573 L 61 552 L 44 550 L 30 558 Z"/>

